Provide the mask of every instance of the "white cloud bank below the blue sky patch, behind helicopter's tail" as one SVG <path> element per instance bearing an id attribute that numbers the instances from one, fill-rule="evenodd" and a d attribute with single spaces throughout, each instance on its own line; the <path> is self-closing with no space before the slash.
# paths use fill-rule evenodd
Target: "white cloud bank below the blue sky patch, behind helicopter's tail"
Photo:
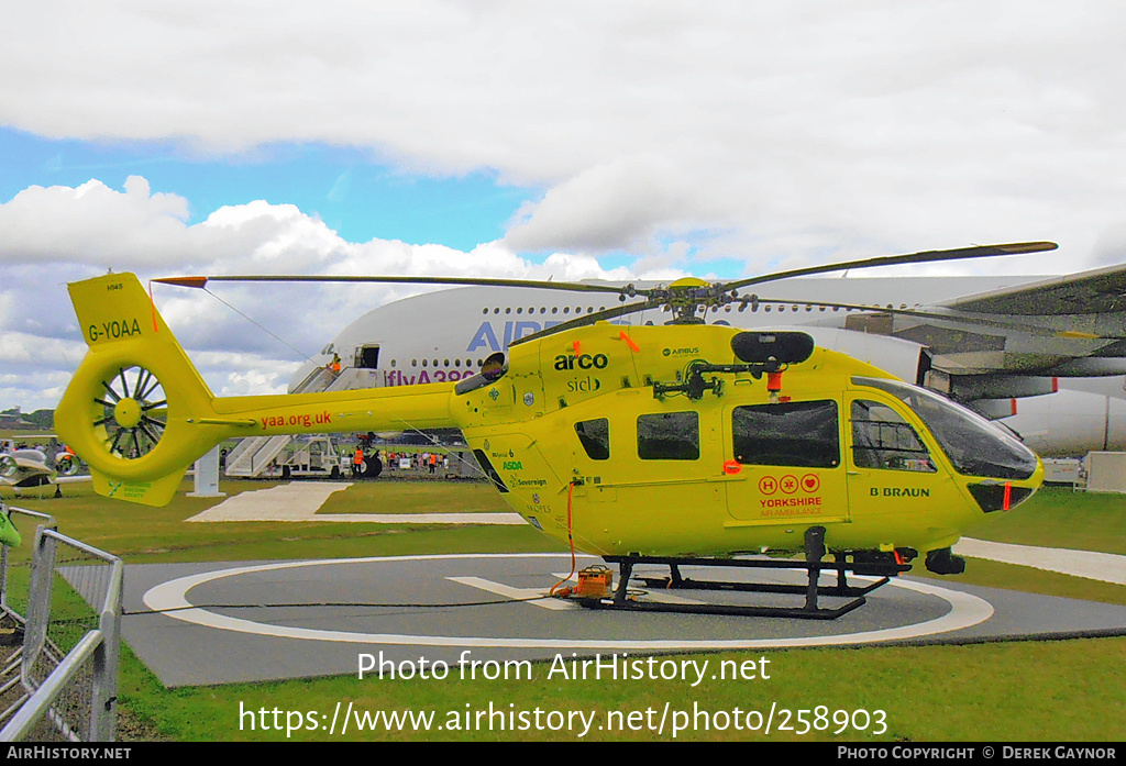
<path id="1" fill-rule="evenodd" d="M 629 277 L 587 255 L 558 253 L 534 264 L 500 242 L 471 252 L 348 242 L 293 205 L 260 200 L 220 208 L 194 225 L 185 218 L 182 198 L 152 193 L 140 177 L 124 191 L 91 180 L 78 188 L 33 187 L 0 204 L 0 373 L 26 371 L 25 387 L 9 386 L 11 404 L 34 409 L 57 403 L 61 381 L 86 353 L 65 282 L 106 269 L 132 269 L 142 281 L 185 272 Z M 212 282 L 208 290 L 159 285 L 153 294 L 213 391 L 233 396 L 284 391 L 297 366 L 346 324 L 419 288 Z"/>

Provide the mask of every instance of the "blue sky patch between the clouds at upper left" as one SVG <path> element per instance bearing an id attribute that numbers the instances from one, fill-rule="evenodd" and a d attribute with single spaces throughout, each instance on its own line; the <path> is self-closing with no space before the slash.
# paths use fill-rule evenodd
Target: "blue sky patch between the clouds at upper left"
<path id="1" fill-rule="evenodd" d="M 77 187 L 91 178 L 120 188 L 143 175 L 153 191 L 190 205 L 188 223 L 224 205 L 296 205 L 350 242 L 402 240 L 470 251 L 499 240 L 537 189 L 495 174 L 435 178 L 378 164 L 370 150 L 270 144 L 239 156 L 193 155 L 170 142 L 52 139 L 0 128 L 0 199 L 29 186 Z"/>

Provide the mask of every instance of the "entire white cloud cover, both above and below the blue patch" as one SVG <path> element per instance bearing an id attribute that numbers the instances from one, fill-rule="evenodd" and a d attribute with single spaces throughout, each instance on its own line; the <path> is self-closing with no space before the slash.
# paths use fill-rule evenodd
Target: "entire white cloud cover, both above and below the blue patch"
<path id="1" fill-rule="evenodd" d="M 17 3 L 0 125 L 240 160 L 270 142 L 358 146 L 404 173 L 545 191 L 503 240 L 461 252 L 348 242 L 265 201 L 189 224 L 186 199 L 140 177 L 30 187 L 0 205 L 0 364 L 73 366 L 63 282 L 105 269 L 561 280 L 624 277 L 591 255 L 628 250 L 629 271 L 668 278 L 716 258 L 752 271 L 1039 238 L 1063 247 L 967 268 L 1118 262 L 1124 17 L 1111 0 Z M 410 291 L 214 290 L 300 350 L 159 288 L 186 344 L 238 355 L 207 372 L 231 391 L 276 389 L 268 364 Z M 56 385 L 29 375 L 26 393 Z"/>

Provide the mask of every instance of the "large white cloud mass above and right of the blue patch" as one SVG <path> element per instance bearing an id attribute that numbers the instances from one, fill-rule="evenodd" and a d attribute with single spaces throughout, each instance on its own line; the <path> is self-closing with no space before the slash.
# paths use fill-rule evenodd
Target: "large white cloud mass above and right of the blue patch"
<path id="1" fill-rule="evenodd" d="M 0 123 L 485 169 L 546 189 L 515 247 L 653 255 L 672 237 L 760 265 L 1051 237 L 1087 258 L 1126 218 L 1124 16 L 1110 0 L 46 0 L 0 29 Z"/>

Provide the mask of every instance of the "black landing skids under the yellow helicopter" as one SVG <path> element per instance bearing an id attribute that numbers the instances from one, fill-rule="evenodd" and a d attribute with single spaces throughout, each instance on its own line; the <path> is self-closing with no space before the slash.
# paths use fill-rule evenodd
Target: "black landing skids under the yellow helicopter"
<path id="1" fill-rule="evenodd" d="M 799 620 L 835 620 L 842 614 L 861 606 L 865 596 L 882 585 L 886 585 L 890 576 L 899 575 L 911 567 L 909 565 L 891 564 L 848 564 L 843 556 L 832 564 L 822 562 L 825 556 L 825 530 L 813 526 L 805 532 L 805 561 L 759 561 L 750 559 L 686 559 L 652 556 L 607 556 L 605 559 L 619 567 L 618 585 L 613 598 L 584 598 L 582 605 L 588 609 L 628 610 L 634 612 L 676 612 L 681 614 L 729 614 L 736 616 L 793 618 Z M 669 604 L 659 602 L 636 601 L 628 597 L 629 580 L 633 568 L 638 564 L 660 564 L 669 567 L 669 577 L 640 578 L 647 587 L 659 587 L 665 591 L 738 591 L 743 593 L 788 593 L 804 594 L 804 606 L 742 606 L 735 604 Z M 802 569 L 806 573 L 805 585 L 778 585 L 769 583 L 731 583 L 723 580 L 696 580 L 682 577 L 681 566 L 694 567 L 738 567 L 741 569 Z M 820 585 L 819 577 L 823 570 L 837 571 L 835 585 Z M 882 575 L 882 577 L 865 586 L 849 585 L 847 573 Z M 819 596 L 849 597 L 852 601 L 837 607 L 819 606 Z"/>

